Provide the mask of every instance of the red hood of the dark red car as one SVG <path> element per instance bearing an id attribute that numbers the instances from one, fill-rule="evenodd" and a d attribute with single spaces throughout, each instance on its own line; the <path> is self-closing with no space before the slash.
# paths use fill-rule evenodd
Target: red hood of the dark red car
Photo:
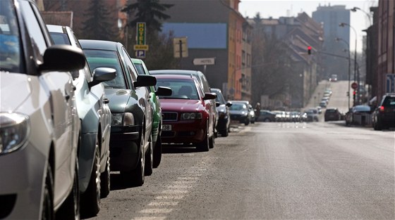
<path id="1" fill-rule="evenodd" d="M 161 98 L 160 101 L 163 111 L 195 112 L 196 110 L 199 110 L 199 108 L 202 106 L 202 102 L 199 100 Z"/>

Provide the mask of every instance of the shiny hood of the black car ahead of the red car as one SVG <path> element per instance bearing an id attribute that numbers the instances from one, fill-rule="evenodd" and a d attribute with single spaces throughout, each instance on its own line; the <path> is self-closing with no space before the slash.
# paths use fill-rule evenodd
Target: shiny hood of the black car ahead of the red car
<path id="1" fill-rule="evenodd" d="M 130 98 L 129 89 L 104 89 L 107 98 L 109 98 L 109 107 L 111 112 L 125 112 Z"/>

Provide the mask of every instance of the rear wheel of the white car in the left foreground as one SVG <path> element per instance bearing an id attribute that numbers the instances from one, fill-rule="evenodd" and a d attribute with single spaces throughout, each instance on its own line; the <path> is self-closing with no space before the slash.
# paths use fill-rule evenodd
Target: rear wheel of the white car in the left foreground
<path id="1" fill-rule="evenodd" d="M 80 189 L 78 184 L 78 162 L 75 162 L 73 188 L 61 208 L 56 212 L 56 219 L 80 219 Z"/>

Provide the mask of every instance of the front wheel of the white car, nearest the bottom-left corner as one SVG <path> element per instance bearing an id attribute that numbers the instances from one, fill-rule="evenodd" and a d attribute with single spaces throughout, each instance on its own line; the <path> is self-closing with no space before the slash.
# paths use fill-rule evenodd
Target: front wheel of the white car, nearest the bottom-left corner
<path id="1" fill-rule="evenodd" d="M 47 176 L 45 177 L 44 200 L 42 202 L 42 220 L 55 219 L 54 216 L 54 177 L 52 176 L 51 164 L 47 165 Z"/>

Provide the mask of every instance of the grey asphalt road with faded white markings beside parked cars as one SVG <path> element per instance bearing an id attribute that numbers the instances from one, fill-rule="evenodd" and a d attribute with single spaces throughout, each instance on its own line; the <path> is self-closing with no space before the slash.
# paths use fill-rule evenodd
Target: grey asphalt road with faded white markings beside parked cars
<path id="1" fill-rule="evenodd" d="M 209 152 L 167 148 L 141 187 L 111 174 L 92 219 L 395 219 L 394 140 L 344 122 L 241 125 Z"/>

